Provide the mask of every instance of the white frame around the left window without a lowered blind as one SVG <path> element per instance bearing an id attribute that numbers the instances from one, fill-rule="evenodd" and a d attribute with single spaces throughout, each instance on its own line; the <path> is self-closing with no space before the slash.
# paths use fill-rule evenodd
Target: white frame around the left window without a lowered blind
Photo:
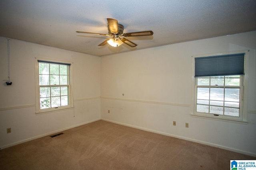
<path id="1" fill-rule="evenodd" d="M 70 69 L 69 69 L 69 105 L 67 106 L 59 106 L 59 107 L 51 107 L 51 108 L 46 108 L 46 109 L 40 109 L 40 85 L 39 85 L 39 61 L 48 61 L 48 62 L 53 62 L 53 63 L 66 63 L 70 64 Z M 55 112 L 55 111 L 60 111 L 63 109 L 73 109 L 74 108 L 74 101 L 73 101 L 73 90 L 72 90 L 72 62 L 69 61 L 57 61 L 57 60 L 52 60 L 52 59 L 42 59 L 42 58 L 35 58 L 35 85 L 36 85 L 36 114 L 44 114 L 44 113 L 50 113 L 50 112 Z"/>

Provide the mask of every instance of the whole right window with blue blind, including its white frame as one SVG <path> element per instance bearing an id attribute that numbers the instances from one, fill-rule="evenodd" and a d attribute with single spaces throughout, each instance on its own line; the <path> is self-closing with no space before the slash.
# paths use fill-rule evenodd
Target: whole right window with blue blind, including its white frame
<path id="1" fill-rule="evenodd" d="M 247 53 L 192 57 L 192 116 L 247 121 Z"/>

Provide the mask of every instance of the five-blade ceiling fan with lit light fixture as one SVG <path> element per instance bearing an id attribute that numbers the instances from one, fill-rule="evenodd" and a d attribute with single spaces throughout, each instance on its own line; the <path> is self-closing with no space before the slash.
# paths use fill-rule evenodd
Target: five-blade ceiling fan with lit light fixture
<path id="1" fill-rule="evenodd" d="M 90 32 L 84 32 L 84 31 L 76 31 L 77 33 L 87 33 L 87 34 L 96 34 L 96 35 L 103 35 L 111 37 L 110 39 L 106 39 L 102 43 L 100 43 L 98 46 L 105 45 L 108 43 L 112 47 L 118 47 L 122 45 L 123 43 L 129 45 L 130 47 L 136 47 L 137 44 L 133 43 L 132 41 L 129 41 L 126 38 L 121 37 L 135 37 L 135 36 L 148 36 L 153 35 L 153 31 L 141 31 L 141 32 L 133 32 L 133 33 L 123 33 L 124 32 L 124 26 L 119 24 L 117 20 L 112 18 L 107 18 L 108 20 L 108 34 L 102 34 L 102 33 L 90 33 Z"/>

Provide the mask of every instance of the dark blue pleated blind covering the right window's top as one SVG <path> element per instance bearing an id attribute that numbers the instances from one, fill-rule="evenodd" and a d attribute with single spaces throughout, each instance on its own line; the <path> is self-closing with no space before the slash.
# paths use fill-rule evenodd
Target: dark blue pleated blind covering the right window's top
<path id="1" fill-rule="evenodd" d="M 244 75 L 244 53 L 195 58 L 195 77 Z"/>

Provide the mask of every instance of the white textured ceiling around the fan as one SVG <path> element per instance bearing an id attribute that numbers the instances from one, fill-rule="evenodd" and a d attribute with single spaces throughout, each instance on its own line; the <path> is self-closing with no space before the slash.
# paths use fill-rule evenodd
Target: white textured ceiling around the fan
<path id="1" fill-rule="evenodd" d="M 98 46 L 106 18 L 124 25 L 137 47 Z M 105 56 L 172 43 L 256 30 L 256 0 L 1 0 L 0 36 Z"/>

